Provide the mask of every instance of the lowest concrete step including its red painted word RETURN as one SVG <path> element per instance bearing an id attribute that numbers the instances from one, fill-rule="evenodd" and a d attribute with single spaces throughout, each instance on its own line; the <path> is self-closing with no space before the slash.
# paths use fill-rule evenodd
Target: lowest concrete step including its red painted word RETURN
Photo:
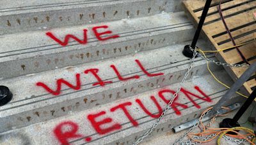
<path id="1" fill-rule="evenodd" d="M 227 72 L 214 73 L 228 85 L 232 83 Z M 154 124 L 159 112 L 166 106 L 164 100 L 168 101 L 178 86 L 179 84 L 173 84 L 157 88 L 79 113 L 73 111 L 67 116 L 20 129 L 13 127 L 13 130 L 0 134 L 0 143 L 132 144 Z M 166 132 L 180 123 L 198 117 L 201 111 L 215 104 L 227 91 L 227 88 L 218 84 L 211 75 L 198 74 L 186 81 L 183 89 L 179 93 L 178 99 L 175 100 L 172 109 L 168 111 L 152 135 Z M 230 99 L 230 103 L 234 101 L 235 99 Z M 84 103 L 80 102 L 74 107 L 84 107 Z M 53 116 L 56 115 L 56 112 L 45 112 L 40 116 L 31 115 L 29 120 L 33 121 L 36 118 L 43 120 L 44 115 L 49 113 Z M 28 121 L 27 119 L 23 120 Z M 11 123 L 13 120 L 8 121 Z M 3 124 L 3 127 L 5 126 Z"/>

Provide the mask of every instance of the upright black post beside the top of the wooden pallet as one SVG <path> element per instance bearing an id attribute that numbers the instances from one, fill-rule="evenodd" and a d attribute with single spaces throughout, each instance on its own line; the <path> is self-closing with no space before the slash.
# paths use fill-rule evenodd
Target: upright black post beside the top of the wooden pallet
<path id="1" fill-rule="evenodd" d="M 205 3 L 202 16 L 201 16 L 201 18 L 200 18 L 199 24 L 198 24 L 197 29 L 196 29 L 196 32 L 195 32 L 195 36 L 194 36 L 193 41 L 192 41 L 192 43 L 191 43 L 191 47 L 192 47 L 192 48 L 195 48 L 195 46 L 196 46 L 196 43 L 197 43 L 198 38 L 199 38 L 199 36 L 200 36 L 200 32 L 201 32 L 202 27 L 203 27 L 203 25 L 204 25 L 204 21 L 205 21 L 206 15 L 207 15 L 207 13 L 208 13 L 208 10 L 209 10 L 209 8 L 210 8 L 210 6 L 211 6 L 211 3 L 212 3 L 212 0 L 207 0 L 206 3 Z"/>

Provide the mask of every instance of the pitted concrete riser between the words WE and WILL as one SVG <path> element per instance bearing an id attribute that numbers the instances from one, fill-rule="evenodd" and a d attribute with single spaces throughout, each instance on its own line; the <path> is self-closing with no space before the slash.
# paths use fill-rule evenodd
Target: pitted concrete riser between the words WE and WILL
<path id="1" fill-rule="evenodd" d="M 109 59 L 122 55 L 137 53 L 145 50 L 152 50 L 163 46 L 172 45 L 192 39 L 193 29 L 190 24 L 182 24 L 180 31 L 166 33 L 159 31 L 157 34 L 149 36 L 140 34 L 118 38 L 118 42 L 97 46 L 97 42 L 90 42 L 90 48 L 83 48 L 83 45 L 77 45 L 76 50 L 67 52 L 42 54 L 38 57 L 27 59 L 17 59 L 0 63 L 0 76 L 4 79 L 33 74 L 36 72 L 49 71 L 56 68 L 76 66 L 95 60 Z M 189 27 L 191 29 L 189 29 Z M 134 39 L 136 38 L 136 39 Z M 51 48 L 54 49 L 54 48 Z M 59 48 L 55 48 L 59 49 Z M 30 52 L 33 52 L 32 50 Z M 26 53 L 26 52 L 24 52 Z M 40 52 L 37 52 L 40 53 Z"/>

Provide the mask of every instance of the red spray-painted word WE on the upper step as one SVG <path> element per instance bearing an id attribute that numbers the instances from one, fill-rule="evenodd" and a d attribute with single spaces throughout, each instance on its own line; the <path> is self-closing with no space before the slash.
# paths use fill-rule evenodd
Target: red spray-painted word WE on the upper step
<path id="1" fill-rule="evenodd" d="M 96 38 L 99 40 L 99 41 L 106 41 L 108 39 L 115 39 L 115 38 L 119 38 L 118 35 L 113 35 L 113 36 L 108 36 L 108 37 L 104 37 L 102 35 L 105 35 L 105 34 L 112 34 L 112 31 L 105 31 L 105 32 L 99 32 L 98 29 L 108 29 L 108 25 L 100 25 L 100 26 L 97 26 L 97 27 L 92 27 L 92 31 L 93 33 L 95 34 Z M 81 45 L 86 45 L 87 43 L 87 29 L 83 29 L 83 32 L 84 32 L 84 39 L 79 39 L 77 38 L 76 36 L 72 35 L 72 34 L 67 34 L 65 36 L 65 39 L 64 41 L 61 41 L 60 39 L 56 38 L 56 36 L 54 36 L 52 34 L 52 32 L 47 32 L 46 35 L 49 36 L 50 38 L 54 39 L 54 41 L 56 41 L 57 43 L 59 43 L 61 46 L 67 46 L 68 45 L 68 40 L 70 38 L 76 40 L 78 43 L 80 43 Z"/>

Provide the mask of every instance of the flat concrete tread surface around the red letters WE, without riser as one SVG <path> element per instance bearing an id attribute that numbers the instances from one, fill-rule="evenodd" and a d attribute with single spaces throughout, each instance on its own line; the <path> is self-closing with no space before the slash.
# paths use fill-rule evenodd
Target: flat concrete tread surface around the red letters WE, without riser
<path id="1" fill-rule="evenodd" d="M 111 39 L 109 42 L 100 43 L 92 32 L 92 27 L 99 25 L 109 25 L 108 29 L 113 31 L 113 34 L 120 36 L 118 39 L 137 38 L 140 34 L 149 35 L 152 33 L 151 35 L 156 35 L 154 34 L 156 31 L 176 31 L 177 29 L 175 28 L 177 27 L 185 27 L 186 29 L 192 28 L 192 24 L 184 17 L 184 13 L 179 12 L 107 22 L 104 24 L 81 25 L 45 31 L 26 32 L 22 34 L 11 34 L 1 36 L 0 38 L 0 42 L 3 44 L 0 48 L 1 61 L 15 60 L 17 57 L 19 57 L 19 59 L 23 59 L 26 58 L 26 55 L 27 57 L 38 56 L 42 51 L 45 52 L 44 54 L 67 52 L 70 50 L 85 49 L 92 46 L 105 45 L 106 43 L 115 43 L 115 41 L 123 40 Z M 68 45 L 63 47 L 45 34 L 46 32 L 52 32 L 56 38 L 59 38 L 61 41 L 64 40 L 67 34 L 72 34 L 77 38 L 83 39 L 83 29 L 88 29 L 88 44 L 86 45 L 81 45 L 77 41 L 74 41 L 74 39 L 71 39 L 72 41 L 69 41 Z M 28 53 L 30 55 L 28 55 Z"/>

